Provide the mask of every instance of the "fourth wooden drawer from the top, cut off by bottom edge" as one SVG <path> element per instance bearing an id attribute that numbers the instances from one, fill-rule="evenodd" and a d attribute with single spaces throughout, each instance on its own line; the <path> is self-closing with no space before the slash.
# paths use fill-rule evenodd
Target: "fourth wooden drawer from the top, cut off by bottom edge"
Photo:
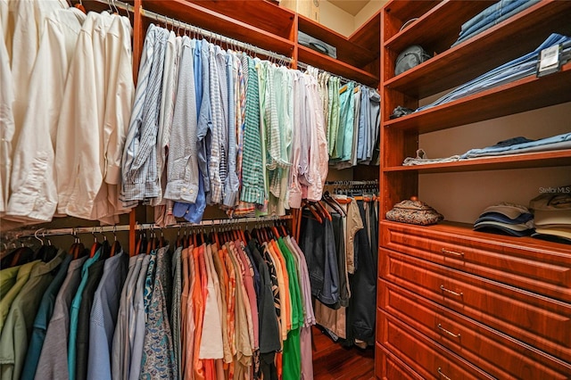
<path id="1" fill-rule="evenodd" d="M 425 379 L 492 379 L 383 310 L 377 310 L 377 340 Z"/>

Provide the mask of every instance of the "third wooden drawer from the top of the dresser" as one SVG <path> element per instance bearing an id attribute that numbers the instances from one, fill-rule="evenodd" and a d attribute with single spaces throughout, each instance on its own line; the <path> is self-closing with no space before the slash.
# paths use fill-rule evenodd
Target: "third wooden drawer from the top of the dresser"
<path id="1" fill-rule="evenodd" d="M 567 379 L 571 364 L 379 280 L 379 308 L 497 378 Z M 379 331 L 377 339 L 382 337 Z"/>

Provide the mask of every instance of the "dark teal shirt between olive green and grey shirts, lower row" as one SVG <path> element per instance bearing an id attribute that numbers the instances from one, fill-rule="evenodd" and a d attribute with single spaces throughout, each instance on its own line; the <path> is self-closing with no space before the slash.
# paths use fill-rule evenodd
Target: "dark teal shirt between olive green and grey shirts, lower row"
<path id="1" fill-rule="evenodd" d="M 64 256 L 62 264 L 58 268 L 50 285 L 47 286 L 46 292 L 39 304 L 36 318 L 34 319 L 28 352 L 26 353 L 26 361 L 24 362 L 21 373 L 21 379 L 31 380 L 36 376 L 37 362 L 46 339 L 47 326 L 54 313 L 55 298 L 62 287 L 63 280 L 67 277 L 68 268 L 70 267 L 70 261 L 72 259 L 73 257 L 71 255 Z"/>

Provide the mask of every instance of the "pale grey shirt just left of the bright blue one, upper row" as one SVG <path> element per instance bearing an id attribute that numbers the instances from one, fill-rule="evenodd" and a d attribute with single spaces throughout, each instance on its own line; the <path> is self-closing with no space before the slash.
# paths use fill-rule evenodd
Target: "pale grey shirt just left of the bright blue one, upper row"
<path id="1" fill-rule="evenodd" d="M 189 37 L 183 37 L 179 66 L 164 197 L 172 201 L 195 202 L 198 194 L 197 114 L 194 98 L 193 51 Z"/>

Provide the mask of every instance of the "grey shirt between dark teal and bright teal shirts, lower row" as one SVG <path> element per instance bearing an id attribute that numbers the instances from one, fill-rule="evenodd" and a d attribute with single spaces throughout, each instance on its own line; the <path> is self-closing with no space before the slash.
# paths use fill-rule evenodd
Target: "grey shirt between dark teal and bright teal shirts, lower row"
<path id="1" fill-rule="evenodd" d="M 37 362 L 35 378 L 69 379 L 68 372 L 68 332 L 70 305 L 81 281 L 81 271 L 87 261 L 82 257 L 70 262 L 67 276 L 63 280 L 55 298 L 54 314 L 47 325 L 46 339 Z"/>

